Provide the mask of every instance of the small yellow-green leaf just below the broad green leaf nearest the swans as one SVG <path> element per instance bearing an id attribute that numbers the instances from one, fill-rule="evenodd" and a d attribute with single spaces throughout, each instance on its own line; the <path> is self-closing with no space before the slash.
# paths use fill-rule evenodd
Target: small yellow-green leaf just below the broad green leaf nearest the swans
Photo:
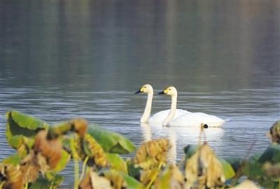
<path id="1" fill-rule="evenodd" d="M 127 174 L 127 164 L 117 153 L 106 153 L 106 159 L 109 161 L 112 169 Z"/>

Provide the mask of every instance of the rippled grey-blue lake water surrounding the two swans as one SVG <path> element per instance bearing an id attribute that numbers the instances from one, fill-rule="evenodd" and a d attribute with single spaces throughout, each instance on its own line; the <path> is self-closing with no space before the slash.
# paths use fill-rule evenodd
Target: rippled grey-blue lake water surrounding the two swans
<path id="1" fill-rule="evenodd" d="M 181 160 L 199 132 L 141 126 L 146 95 L 134 92 L 146 83 L 152 114 L 169 108 L 156 93 L 173 85 L 179 108 L 230 119 L 206 130 L 218 156 L 264 150 L 280 119 L 279 10 L 279 1 L 1 1 L 0 160 L 14 152 L 10 110 L 47 123 L 83 117 L 136 146 L 168 137 Z"/>

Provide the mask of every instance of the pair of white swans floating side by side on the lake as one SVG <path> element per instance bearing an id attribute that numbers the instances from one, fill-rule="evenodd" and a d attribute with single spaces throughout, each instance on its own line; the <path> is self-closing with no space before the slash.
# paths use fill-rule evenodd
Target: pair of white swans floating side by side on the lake
<path id="1" fill-rule="evenodd" d="M 202 124 L 207 124 L 209 127 L 221 127 L 225 120 L 204 114 L 201 112 L 188 112 L 183 109 L 177 109 L 177 90 L 174 86 L 167 87 L 159 94 L 171 96 L 171 109 L 160 111 L 151 116 L 151 108 L 153 101 L 153 87 L 150 84 L 144 84 L 135 93 L 147 93 L 148 99 L 143 115 L 141 116 L 141 123 L 161 123 L 162 126 L 195 126 L 200 127 Z M 151 117 L 150 117 L 151 116 Z"/>

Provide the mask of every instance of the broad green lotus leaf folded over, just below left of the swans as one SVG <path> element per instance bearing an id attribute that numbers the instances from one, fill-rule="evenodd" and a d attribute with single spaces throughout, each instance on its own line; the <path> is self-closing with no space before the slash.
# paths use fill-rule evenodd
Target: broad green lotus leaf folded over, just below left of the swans
<path id="1" fill-rule="evenodd" d="M 106 152 L 123 154 L 135 150 L 134 144 L 129 139 L 99 126 L 89 126 L 87 133 L 92 135 Z"/>

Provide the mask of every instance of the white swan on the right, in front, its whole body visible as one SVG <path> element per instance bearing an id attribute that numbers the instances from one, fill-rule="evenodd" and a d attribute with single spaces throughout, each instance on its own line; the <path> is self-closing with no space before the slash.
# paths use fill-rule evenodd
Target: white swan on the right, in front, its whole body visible
<path id="1" fill-rule="evenodd" d="M 174 86 L 167 87 L 164 91 L 159 94 L 165 94 L 171 96 L 172 104 L 171 111 L 163 121 L 162 126 L 195 126 L 200 127 L 201 124 L 207 124 L 208 127 L 221 127 L 225 120 L 218 118 L 217 116 L 212 116 L 209 114 L 204 114 L 202 112 L 188 112 L 188 114 L 183 114 L 174 119 L 174 110 L 177 104 L 177 90 Z"/>

